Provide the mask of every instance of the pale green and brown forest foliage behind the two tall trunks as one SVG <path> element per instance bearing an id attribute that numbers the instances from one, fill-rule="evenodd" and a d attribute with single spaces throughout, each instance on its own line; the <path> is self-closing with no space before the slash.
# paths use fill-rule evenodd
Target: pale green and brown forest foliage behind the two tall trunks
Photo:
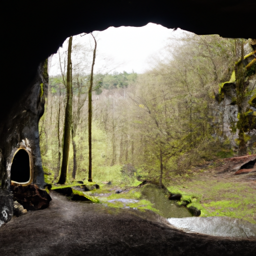
<path id="1" fill-rule="evenodd" d="M 147 73 L 94 74 L 92 178 L 96 182 L 136 184 L 138 179 L 147 179 L 166 183 L 177 175 L 191 177 L 191 166 L 233 155 L 230 141 L 223 135 L 221 111 L 214 109 L 212 89 L 217 91 L 218 84 L 226 80 L 234 82 L 234 41 L 217 35 L 189 35 L 171 48 L 172 58 Z M 87 104 L 83 95 L 88 77 L 84 73 L 73 77 L 75 180 L 87 176 Z M 45 134 L 40 139 L 43 164 L 52 175 L 58 171 L 56 120 L 64 93 L 62 77 L 50 77 Z M 62 123 L 60 109 L 60 137 Z M 72 181 L 73 148 L 70 150 L 68 179 Z M 127 164 L 136 170 L 132 175 L 120 171 Z"/>

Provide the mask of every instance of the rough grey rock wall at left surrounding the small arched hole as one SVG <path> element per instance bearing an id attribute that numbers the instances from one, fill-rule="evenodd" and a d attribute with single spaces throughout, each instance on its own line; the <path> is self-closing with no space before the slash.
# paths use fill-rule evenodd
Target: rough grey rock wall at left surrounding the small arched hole
<path id="1" fill-rule="evenodd" d="M 39 187 L 44 184 L 38 121 L 44 111 L 44 92 L 47 91 L 47 86 L 45 61 L 37 68 L 36 76 L 25 93 L 14 102 L 6 122 L 0 125 L 0 222 L 8 221 L 12 215 L 10 169 L 14 153 L 19 148 L 25 149 L 31 157 L 31 182 Z"/>

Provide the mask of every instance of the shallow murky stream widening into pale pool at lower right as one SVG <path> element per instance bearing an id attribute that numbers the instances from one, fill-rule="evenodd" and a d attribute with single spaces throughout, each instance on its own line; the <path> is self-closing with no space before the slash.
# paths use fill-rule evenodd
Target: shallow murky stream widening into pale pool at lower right
<path id="1" fill-rule="evenodd" d="M 239 237 L 255 239 L 256 225 L 242 219 L 226 216 L 194 217 L 185 206 L 179 206 L 175 201 L 168 199 L 168 193 L 163 189 L 147 184 L 141 188 L 141 198 L 153 203 L 158 214 L 166 218 L 175 228 L 186 233 L 201 233 L 213 236 Z M 111 202 L 120 201 L 136 203 L 135 199 L 113 199 Z"/>

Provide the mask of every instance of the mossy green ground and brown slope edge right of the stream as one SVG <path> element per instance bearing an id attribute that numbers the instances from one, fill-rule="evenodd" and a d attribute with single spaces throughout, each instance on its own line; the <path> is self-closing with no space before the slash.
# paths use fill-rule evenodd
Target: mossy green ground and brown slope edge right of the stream
<path id="1" fill-rule="evenodd" d="M 229 216 L 256 224 L 256 181 L 249 175 L 197 169 L 174 178 L 167 189 L 182 194 L 180 203 L 200 209 L 200 216 Z"/>

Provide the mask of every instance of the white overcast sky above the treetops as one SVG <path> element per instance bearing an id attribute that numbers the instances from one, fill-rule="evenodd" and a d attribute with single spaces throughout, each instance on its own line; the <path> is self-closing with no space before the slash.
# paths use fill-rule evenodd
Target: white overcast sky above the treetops
<path id="1" fill-rule="evenodd" d="M 130 73 L 132 70 L 143 73 L 153 65 L 154 58 L 161 58 L 165 54 L 164 46 L 167 44 L 168 38 L 178 37 L 181 33 L 181 29 L 173 31 L 173 29 L 154 23 L 148 23 L 142 27 L 108 27 L 103 31 L 93 31 L 97 40 L 94 73 L 122 71 Z M 90 49 L 91 52 L 94 46 L 90 34 L 73 36 L 73 47 L 77 43 L 83 46 L 84 51 Z M 60 48 L 60 53 L 66 51 L 66 49 L 67 40 Z M 91 58 L 91 54 L 85 52 L 85 54 L 79 53 L 77 55 L 73 49 L 71 56 L 73 67 L 76 62 L 81 62 L 81 59 L 85 67 Z M 89 61 L 86 59 L 89 59 Z M 87 65 L 89 66 L 90 63 Z M 53 54 L 49 61 L 49 75 L 59 73 L 59 57 L 58 54 Z"/>

